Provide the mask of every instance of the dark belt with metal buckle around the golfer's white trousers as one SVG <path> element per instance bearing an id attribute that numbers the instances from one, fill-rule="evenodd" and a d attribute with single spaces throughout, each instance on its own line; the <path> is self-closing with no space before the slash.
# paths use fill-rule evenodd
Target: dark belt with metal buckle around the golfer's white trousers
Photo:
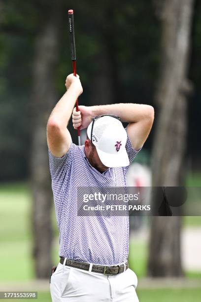
<path id="1" fill-rule="evenodd" d="M 64 257 L 60 257 L 60 263 L 64 264 Z M 71 259 L 67 259 L 66 261 L 67 266 L 72 266 L 75 268 L 80 268 L 83 270 L 89 270 L 90 264 L 86 262 L 79 262 L 79 261 L 74 261 Z M 125 263 L 125 270 L 129 268 L 128 261 Z M 124 264 L 121 265 L 113 265 L 113 266 L 104 266 L 104 265 L 98 265 L 98 264 L 93 264 L 92 265 L 92 271 L 93 272 L 99 272 L 104 275 L 117 275 L 122 272 L 124 272 Z"/>

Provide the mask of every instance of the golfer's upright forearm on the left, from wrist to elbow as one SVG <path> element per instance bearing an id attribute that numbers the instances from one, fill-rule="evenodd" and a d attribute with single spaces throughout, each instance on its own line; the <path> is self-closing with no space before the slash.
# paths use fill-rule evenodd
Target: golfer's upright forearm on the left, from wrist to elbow
<path id="1" fill-rule="evenodd" d="M 66 128 L 78 96 L 77 86 L 72 83 L 53 109 L 49 121 Z"/>

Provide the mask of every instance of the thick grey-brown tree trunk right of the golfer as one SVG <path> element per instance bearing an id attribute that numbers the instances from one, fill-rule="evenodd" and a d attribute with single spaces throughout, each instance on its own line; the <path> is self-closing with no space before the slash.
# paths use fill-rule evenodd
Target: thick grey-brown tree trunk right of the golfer
<path id="1" fill-rule="evenodd" d="M 153 186 L 183 184 L 187 94 L 191 90 L 187 72 L 193 2 L 165 0 L 161 11 L 162 56 L 156 95 L 159 115 L 156 116 L 152 154 Z M 182 275 L 180 230 L 180 217 L 155 217 L 152 220 L 148 259 L 150 276 Z"/>

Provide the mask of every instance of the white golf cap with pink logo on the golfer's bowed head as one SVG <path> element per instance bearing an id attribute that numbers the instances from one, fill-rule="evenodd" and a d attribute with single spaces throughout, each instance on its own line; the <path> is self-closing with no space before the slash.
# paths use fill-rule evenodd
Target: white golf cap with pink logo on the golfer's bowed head
<path id="1" fill-rule="evenodd" d="M 91 140 L 92 123 L 87 128 L 87 136 Z M 126 151 L 127 133 L 121 121 L 112 116 L 103 115 L 95 119 L 92 143 L 96 147 L 101 162 L 110 168 L 129 165 Z"/>

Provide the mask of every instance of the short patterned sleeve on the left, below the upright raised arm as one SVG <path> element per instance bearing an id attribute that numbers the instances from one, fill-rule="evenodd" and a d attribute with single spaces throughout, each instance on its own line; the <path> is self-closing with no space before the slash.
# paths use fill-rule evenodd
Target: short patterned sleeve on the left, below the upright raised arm
<path id="1" fill-rule="evenodd" d="M 73 158 L 74 158 L 75 144 L 70 144 L 70 148 L 67 153 L 59 158 L 54 156 L 50 150 L 49 152 L 49 164 L 50 164 L 50 175 L 52 181 L 55 179 L 63 179 L 64 176 L 70 170 Z"/>

